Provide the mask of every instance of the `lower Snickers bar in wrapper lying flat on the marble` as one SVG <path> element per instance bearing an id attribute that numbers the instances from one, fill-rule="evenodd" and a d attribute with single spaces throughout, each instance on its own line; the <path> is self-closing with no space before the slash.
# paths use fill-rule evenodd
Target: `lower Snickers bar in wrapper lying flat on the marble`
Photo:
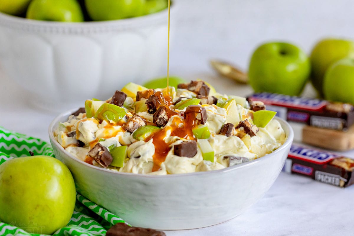
<path id="1" fill-rule="evenodd" d="M 283 171 L 345 188 L 354 184 L 354 160 L 321 149 L 292 144 Z"/>

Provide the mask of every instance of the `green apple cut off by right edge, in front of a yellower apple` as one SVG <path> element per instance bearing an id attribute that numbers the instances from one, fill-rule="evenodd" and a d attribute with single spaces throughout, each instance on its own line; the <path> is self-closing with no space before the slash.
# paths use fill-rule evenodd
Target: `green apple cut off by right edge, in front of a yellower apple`
<path id="1" fill-rule="evenodd" d="M 354 104 L 354 58 L 344 58 L 326 71 L 323 93 L 326 100 Z"/>

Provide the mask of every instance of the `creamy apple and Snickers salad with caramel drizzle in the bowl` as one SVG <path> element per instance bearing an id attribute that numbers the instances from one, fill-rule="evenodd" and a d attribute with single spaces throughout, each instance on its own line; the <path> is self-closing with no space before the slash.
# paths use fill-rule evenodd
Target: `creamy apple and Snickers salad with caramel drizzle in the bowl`
<path id="1" fill-rule="evenodd" d="M 204 81 L 148 89 L 129 83 L 86 100 L 54 136 L 77 159 L 110 171 L 211 171 L 269 154 L 285 142 L 262 102 L 220 94 Z"/>

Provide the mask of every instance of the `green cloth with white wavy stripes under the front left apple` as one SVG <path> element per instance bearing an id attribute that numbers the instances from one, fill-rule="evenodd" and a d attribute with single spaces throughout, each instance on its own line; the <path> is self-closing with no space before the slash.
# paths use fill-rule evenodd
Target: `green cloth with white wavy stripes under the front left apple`
<path id="1" fill-rule="evenodd" d="M 34 155 L 54 157 L 51 145 L 43 140 L 0 127 L 0 165 L 16 157 L 29 156 L 29 151 L 33 151 Z M 105 235 L 107 229 L 121 222 L 125 221 L 77 193 L 72 218 L 67 226 L 58 229 L 53 235 Z M 29 234 L 20 228 L 0 222 L 0 235 L 38 234 Z"/>

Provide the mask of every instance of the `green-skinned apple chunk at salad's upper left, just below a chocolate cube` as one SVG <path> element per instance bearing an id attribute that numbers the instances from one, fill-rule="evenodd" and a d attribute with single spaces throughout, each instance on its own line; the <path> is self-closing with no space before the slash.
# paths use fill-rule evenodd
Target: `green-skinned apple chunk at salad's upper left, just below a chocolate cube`
<path id="1" fill-rule="evenodd" d="M 95 118 L 100 121 L 107 120 L 109 122 L 118 122 L 126 114 L 127 110 L 125 108 L 110 103 L 103 103 L 96 111 Z"/>

